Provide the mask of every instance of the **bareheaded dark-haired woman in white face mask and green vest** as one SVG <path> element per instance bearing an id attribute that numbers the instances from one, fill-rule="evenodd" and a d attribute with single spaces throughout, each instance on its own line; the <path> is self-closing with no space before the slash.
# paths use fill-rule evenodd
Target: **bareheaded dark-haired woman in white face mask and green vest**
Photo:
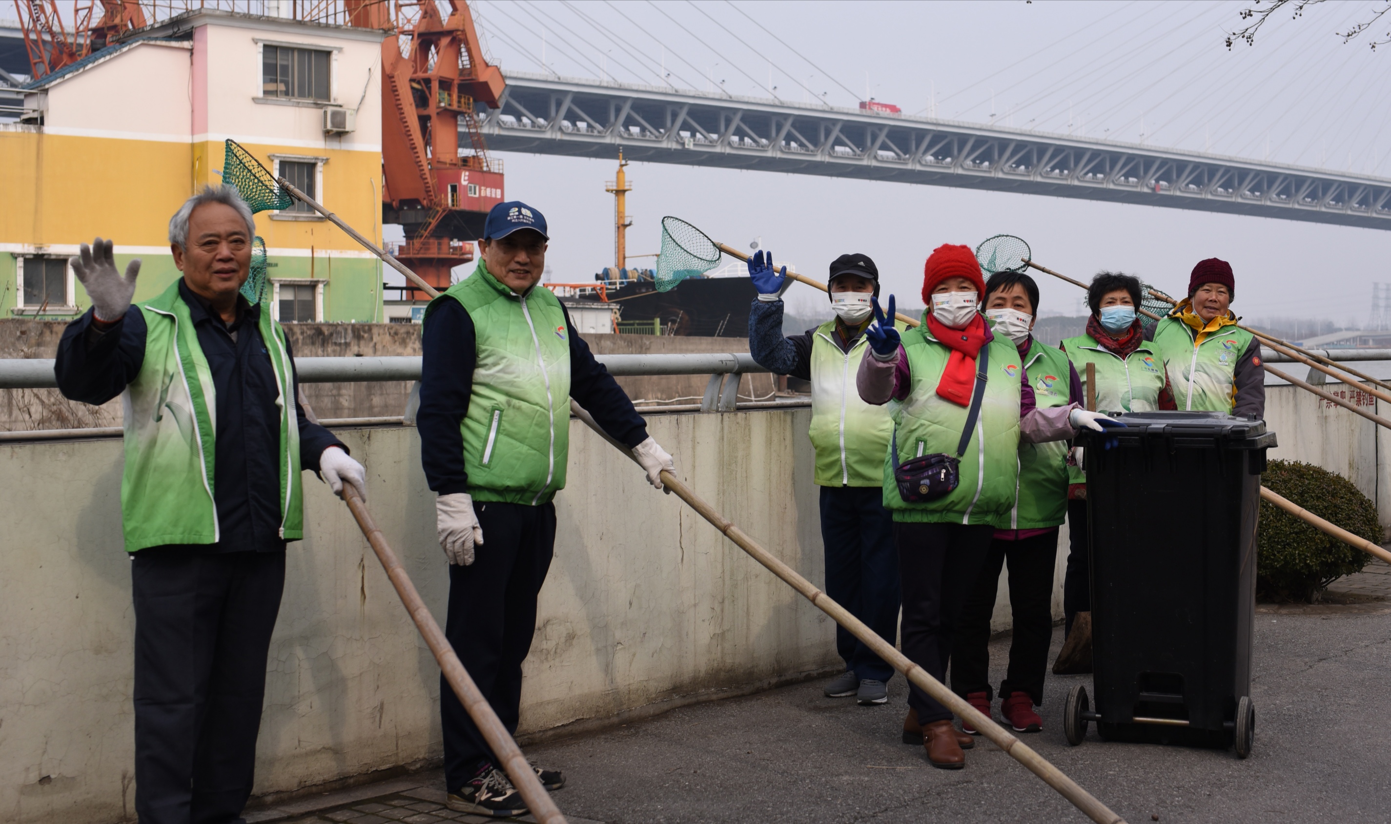
<path id="1" fill-rule="evenodd" d="M 1038 313 L 1039 287 L 1027 274 L 999 271 L 985 284 L 985 316 L 995 334 L 1006 335 L 1024 360 L 1028 384 L 1039 408 L 1082 402 L 1082 381 L 1061 349 L 1031 334 Z M 951 689 L 986 715 L 990 714 L 990 615 L 1000 569 L 1008 561 L 1010 611 L 1014 637 L 1010 668 L 1000 683 L 1000 714 L 1015 732 L 1039 732 L 1047 650 L 1053 640 L 1053 566 L 1059 526 L 1067 516 L 1067 441 L 1020 444 L 1020 479 L 1008 523 L 995 530 L 975 589 L 961 610 L 951 651 Z M 974 732 L 963 724 L 968 732 Z"/>

